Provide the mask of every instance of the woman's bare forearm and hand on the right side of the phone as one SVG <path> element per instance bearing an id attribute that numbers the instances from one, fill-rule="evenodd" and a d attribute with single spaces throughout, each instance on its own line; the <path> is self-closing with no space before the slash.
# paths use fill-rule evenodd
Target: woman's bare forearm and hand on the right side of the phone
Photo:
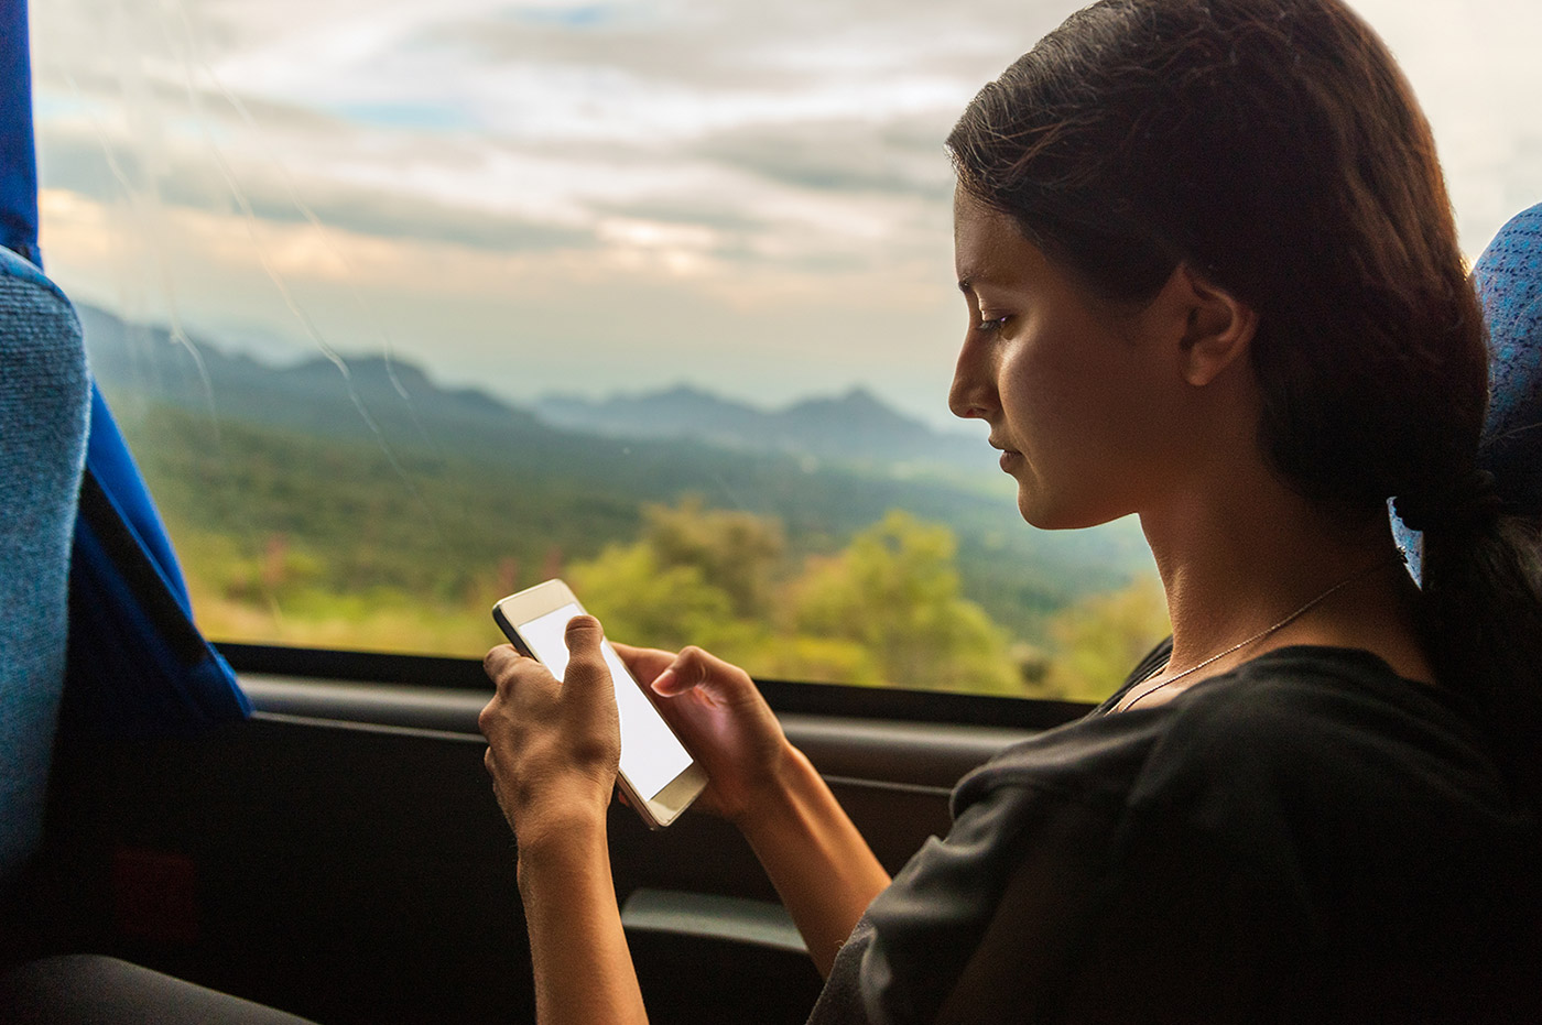
<path id="1" fill-rule="evenodd" d="M 888 872 L 754 681 L 699 647 L 615 644 L 651 683 L 665 717 L 706 768 L 699 805 L 728 818 L 754 849 L 822 976 Z"/>

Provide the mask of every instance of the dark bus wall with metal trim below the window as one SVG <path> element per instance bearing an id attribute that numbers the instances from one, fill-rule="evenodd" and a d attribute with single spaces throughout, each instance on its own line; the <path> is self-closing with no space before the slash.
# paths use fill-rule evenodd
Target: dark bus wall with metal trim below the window
<path id="1" fill-rule="evenodd" d="M 227 654 L 251 721 L 60 743 L 25 911 L 37 953 L 113 954 L 322 1025 L 530 1020 L 513 840 L 481 765 L 480 664 Z M 765 689 L 891 871 L 947 829 L 959 775 L 1081 711 Z M 686 814 L 649 834 L 615 805 L 611 848 L 655 1025 L 806 1017 L 819 976 L 736 829 Z"/>

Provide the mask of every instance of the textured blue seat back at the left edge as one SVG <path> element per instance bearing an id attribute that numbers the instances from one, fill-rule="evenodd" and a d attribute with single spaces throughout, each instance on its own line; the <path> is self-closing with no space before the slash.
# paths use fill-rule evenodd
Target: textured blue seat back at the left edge
<path id="1" fill-rule="evenodd" d="M 0 248 L 0 882 L 42 835 L 88 419 L 74 308 Z"/>

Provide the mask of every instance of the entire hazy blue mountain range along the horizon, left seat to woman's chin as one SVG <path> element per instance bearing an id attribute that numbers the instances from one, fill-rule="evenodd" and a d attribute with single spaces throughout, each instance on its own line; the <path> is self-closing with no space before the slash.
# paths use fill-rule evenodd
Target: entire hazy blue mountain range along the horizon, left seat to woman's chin
<path id="1" fill-rule="evenodd" d="M 219 345 L 173 341 L 163 327 L 128 324 L 80 307 L 91 365 L 103 387 L 190 410 L 213 408 L 333 438 L 390 444 L 560 432 L 625 441 L 688 441 L 736 452 L 813 456 L 882 470 L 930 467 L 954 476 L 992 473 L 978 439 L 944 435 L 904 416 L 865 388 L 757 410 L 689 385 L 603 401 L 546 396 L 534 410 L 475 388 L 443 388 L 410 362 L 324 356 L 273 367 Z M 194 358 L 194 351 L 197 356 Z"/>

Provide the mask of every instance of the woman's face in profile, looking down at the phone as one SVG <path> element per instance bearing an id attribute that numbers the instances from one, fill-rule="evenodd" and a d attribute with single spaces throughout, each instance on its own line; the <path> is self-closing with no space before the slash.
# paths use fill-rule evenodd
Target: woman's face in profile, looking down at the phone
<path id="1" fill-rule="evenodd" d="M 1022 518 L 1067 529 L 1141 512 L 1186 458 L 1172 316 L 1112 308 L 962 191 L 954 257 L 970 324 L 948 405 L 990 424 Z"/>

